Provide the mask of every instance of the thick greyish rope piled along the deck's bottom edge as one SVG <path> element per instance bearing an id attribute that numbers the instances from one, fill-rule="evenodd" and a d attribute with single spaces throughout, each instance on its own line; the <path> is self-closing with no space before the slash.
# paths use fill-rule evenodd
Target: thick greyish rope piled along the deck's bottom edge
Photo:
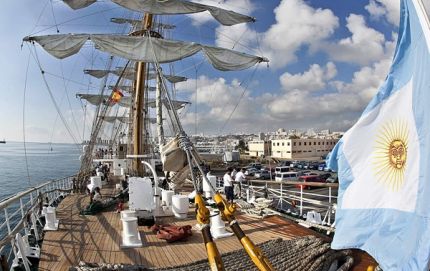
<path id="1" fill-rule="evenodd" d="M 281 271 L 347 271 L 354 264 L 351 250 L 332 250 L 330 244 L 315 236 L 305 236 L 293 240 L 281 238 L 270 240 L 259 245 L 275 270 Z M 244 250 L 237 250 L 222 255 L 225 270 L 243 271 L 258 270 Z M 334 269 L 331 269 L 331 267 Z M 86 264 L 81 262 L 75 271 L 203 271 L 210 270 L 206 259 L 194 263 L 168 268 L 150 269 L 145 266 L 121 264 Z"/>

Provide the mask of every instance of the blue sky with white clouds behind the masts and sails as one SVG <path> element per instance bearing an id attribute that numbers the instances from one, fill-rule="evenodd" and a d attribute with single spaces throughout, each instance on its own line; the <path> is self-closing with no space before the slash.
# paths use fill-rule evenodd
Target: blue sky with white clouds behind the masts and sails
<path id="1" fill-rule="evenodd" d="M 177 98 L 192 102 L 181 112 L 188 133 L 220 134 L 285 129 L 346 130 L 376 93 L 391 64 L 396 43 L 399 0 L 222 0 L 200 1 L 249 14 L 255 23 L 224 27 L 209 14 L 171 16 L 168 36 L 269 58 L 241 72 L 219 72 L 201 56 L 175 63 L 190 78 L 176 85 Z M 51 4 L 52 3 L 52 4 Z M 73 11 L 62 1 L 7 1 L 0 16 L 0 138 L 72 142 L 46 90 L 34 57 L 21 40 L 27 35 L 121 33 L 111 17 L 137 18 L 110 1 Z M 58 26 L 55 27 L 55 24 Z M 96 93 L 100 80 L 83 69 L 103 68 L 107 56 L 89 46 L 59 61 L 36 45 L 37 56 L 69 130 L 80 141 L 84 110 L 77 92 Z M 33 50 L 33 49 L 32 49 Z M 30 63 L 26 73 L 27 63 Z M 115 66 L 124 61 L 116 60 Z M 164 70 L 170 66 L 165 65 Z M 27 74 L 27 81 L 25 80 Z M 64 77 L 66 80 L 59 79 Z M 115 81 L 112 77 L 110 82 Z M 70 103 L 69 103 L 70 102 Z M 91 122 L 92 108 L 87 107 Z"/>

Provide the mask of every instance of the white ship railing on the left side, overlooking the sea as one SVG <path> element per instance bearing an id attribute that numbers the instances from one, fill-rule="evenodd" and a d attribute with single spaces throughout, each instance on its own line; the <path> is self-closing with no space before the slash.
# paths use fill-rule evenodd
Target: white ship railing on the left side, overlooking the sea
<path id="1" fill-rule="evenodd" d="M 38 214 L 41 205 L 51 205 L 70 191 L 74 177 L 48 181 L 0 201 L 0 255 L 8 263 L 17 253 L 14 246 L 15 235 L 29 233 L 31 226 L 36 227 L 30 219 L 31 215 Z"/>

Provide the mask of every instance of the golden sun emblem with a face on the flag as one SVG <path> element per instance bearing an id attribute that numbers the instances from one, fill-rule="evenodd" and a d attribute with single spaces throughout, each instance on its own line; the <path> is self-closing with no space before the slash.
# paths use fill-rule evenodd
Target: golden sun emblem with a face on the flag
<path id="1" fill-rule="evenodd" d="M 391 120 L 376 135 L 373 152 L 373 172 L 390 190 L 398 191 L 405 178 L 408 158 L 408 124 L 403 120 Z"/>

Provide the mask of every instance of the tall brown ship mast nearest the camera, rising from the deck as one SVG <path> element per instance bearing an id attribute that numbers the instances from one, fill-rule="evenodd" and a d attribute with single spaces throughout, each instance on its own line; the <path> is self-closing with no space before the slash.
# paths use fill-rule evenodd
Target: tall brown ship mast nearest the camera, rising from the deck
<path id="1" fill-rule="evenodd" d="M 150 13 L 145 13 L 142 20 L 143 30 L 140 35 L 143 36 L 145 32 L 149 31 L 152 27 L 152 17 Z M 145 154 L 146 148 L 146 125 L 145 117 L 147 110 L 145 108 L 145 74 L 146 63 L 136 63 L 136 81 L 135 81 L 135 98 L 134 98 L 134 117 L 133 117 L 133 153 L 136 157 L 133 160 L 133 172 L 137 176 L 143 176 L 144 167 L 139 159 Z"/>

